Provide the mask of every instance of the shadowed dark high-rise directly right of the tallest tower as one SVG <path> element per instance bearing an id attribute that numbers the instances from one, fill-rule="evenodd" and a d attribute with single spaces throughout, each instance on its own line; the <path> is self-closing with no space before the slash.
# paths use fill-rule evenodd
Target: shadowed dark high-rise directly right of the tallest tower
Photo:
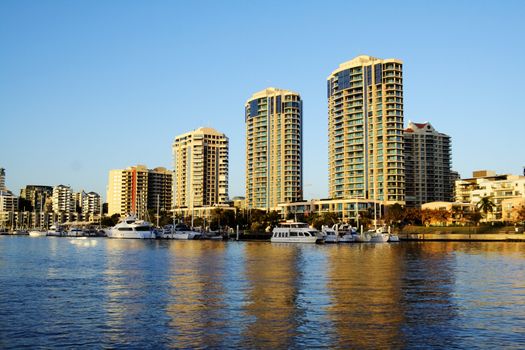
<path id="1" fill-rule="evenodd" d="M 408 123 L 405 129 L 406 205 L 420 207 L 428 202 L 451 202 L 450 136 L 428 122 Z"/>

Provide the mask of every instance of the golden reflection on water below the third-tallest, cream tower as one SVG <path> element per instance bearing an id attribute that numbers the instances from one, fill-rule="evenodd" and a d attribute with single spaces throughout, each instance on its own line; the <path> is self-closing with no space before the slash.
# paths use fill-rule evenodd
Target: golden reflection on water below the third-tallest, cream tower
<path id="1" fill-rule="evenodd" d="M 225 247 L 225 243 L 213 241 L 169 242 L 171 288 L 166 313 L 174 331 L 172 346 L 220 344 L 223 334 L 210 330 L 224 327 Z"/>

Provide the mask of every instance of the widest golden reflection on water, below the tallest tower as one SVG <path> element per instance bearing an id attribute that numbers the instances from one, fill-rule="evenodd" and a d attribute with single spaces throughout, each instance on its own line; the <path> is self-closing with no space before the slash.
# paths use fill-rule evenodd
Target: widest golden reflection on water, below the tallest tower
<path id="1" fill-rule="evenodd" d="M 328 249 L 328 307 L 337 347 L 399 342 L 403 261 L 389 244 L 340 245 Z"/>

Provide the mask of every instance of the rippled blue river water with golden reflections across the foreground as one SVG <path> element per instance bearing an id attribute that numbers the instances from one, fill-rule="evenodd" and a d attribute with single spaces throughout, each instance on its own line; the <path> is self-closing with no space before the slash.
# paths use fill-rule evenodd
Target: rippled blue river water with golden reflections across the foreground
<path id="1" fill-rule="evenodd" d="M 525 244 L 0 237 L 0 348 L 524 348 Z"/>

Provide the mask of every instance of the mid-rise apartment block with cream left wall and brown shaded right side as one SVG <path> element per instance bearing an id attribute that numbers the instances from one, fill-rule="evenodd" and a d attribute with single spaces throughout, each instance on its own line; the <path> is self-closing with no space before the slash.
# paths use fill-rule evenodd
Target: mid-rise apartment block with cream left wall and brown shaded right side
<path id="1" fill-rule="evenodd" d="M 145 165 L 109 172 L 108 215 L 134 213 L 146 215 L 148 209 L 171 208 L 173 173 L 166 168 L 148 169 Z M 150 187 L 151 184 L 151 187 Z"/>

